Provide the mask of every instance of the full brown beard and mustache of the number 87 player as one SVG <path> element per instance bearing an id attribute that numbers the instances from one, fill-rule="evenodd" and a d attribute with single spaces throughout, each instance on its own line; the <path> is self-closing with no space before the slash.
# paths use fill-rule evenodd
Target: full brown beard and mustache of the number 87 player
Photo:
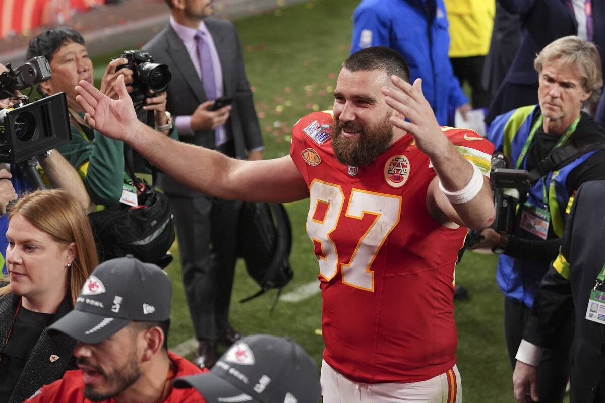
<path id="1" fill-rule="evenodd" d="M 376 127 L 364 127 L 356 121 L 335 121 L 332 124 L 332 149 L 336 160 L 344 165 L 362 167 L 370 164 L 384 153 L 393 141 L 393 126 L 388 119 L 390 114 Z M 359 132 L 355 138 L 342 135 L 342 130 Z"/>

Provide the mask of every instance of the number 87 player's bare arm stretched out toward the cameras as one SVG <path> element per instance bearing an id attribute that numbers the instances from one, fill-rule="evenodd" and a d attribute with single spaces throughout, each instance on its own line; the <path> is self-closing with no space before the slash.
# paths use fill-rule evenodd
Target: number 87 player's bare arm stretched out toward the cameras
<path id="1" fill-rule="evenodd" d="M 117 100 L 88 82 L 76 86 L 84 120 L 108 137 L 128 143 L 183 185 L 206 195 L 245 201 L 289 202 L 307 198 L 309 189 L 290 156 L 243 161 L 214 150 L 181 143 L 137 120 L 123 77 L 116 80 Z"/>

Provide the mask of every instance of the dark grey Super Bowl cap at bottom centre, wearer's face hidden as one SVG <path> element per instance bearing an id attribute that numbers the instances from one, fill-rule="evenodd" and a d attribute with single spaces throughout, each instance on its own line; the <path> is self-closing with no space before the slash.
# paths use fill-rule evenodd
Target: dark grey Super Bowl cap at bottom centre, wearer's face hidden
<path id="1" fill-rule="evenodd" d="M 237 341 L 210 372 L 174 380 L 208 403 L 309 403 L 321 396 L 313 360 L 290 339 L 252 335 Z"/>

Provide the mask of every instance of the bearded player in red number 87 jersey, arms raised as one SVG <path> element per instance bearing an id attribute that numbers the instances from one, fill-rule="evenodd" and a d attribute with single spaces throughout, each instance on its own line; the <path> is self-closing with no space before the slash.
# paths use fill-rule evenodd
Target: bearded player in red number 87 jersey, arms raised
<path id="1" fill-rule="evenodd" d="M 396 51 L 353 54 L 338 76 L 334 110 L 302 118 L 290 155 L 264 161 L 154 135 L 136 120 L 121 79 L 117 101 L 87 82 L 76 88 L 89 124 L 186 186 L 225 199 L 310 198 L 327 403 L 462 399 L 454 266 L 465 227 L 494 218 L 485 178 L 493 146 L 439 127 L 421 80 L 410 85 L 409 77 Z"/>

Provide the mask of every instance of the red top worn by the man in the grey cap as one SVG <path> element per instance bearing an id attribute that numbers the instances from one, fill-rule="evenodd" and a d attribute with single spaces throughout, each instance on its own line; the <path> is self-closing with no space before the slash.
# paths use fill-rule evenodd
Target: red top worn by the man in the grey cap
<path id="1" fill-rule="evenodd" d="M 195 375 L 202 371 L 185 358 L 169 351 L 168 358 L 175 367 L 176 371 L 171 371 L 172 378 L 179 376 Z M 171 378 L 169 376 L 169 378 Z M 170 379 L 168 379 L 170 381 Z M 54 381 L 50 385 L 43 386 L 26 403 L 94 403 L 84 397 L 84 382 L 82 382 L 82 371 L 67 371 L 62 379 Z M 168 398 L 164 403 L 205 403 L 206 400 L 201 397 L 195 388 L 177 389 L 171 388 Z M 97 402 L 98 403 L 98 402 Z M 102 403 L 115 403 L 114 399 L 104 400 Z"/>

